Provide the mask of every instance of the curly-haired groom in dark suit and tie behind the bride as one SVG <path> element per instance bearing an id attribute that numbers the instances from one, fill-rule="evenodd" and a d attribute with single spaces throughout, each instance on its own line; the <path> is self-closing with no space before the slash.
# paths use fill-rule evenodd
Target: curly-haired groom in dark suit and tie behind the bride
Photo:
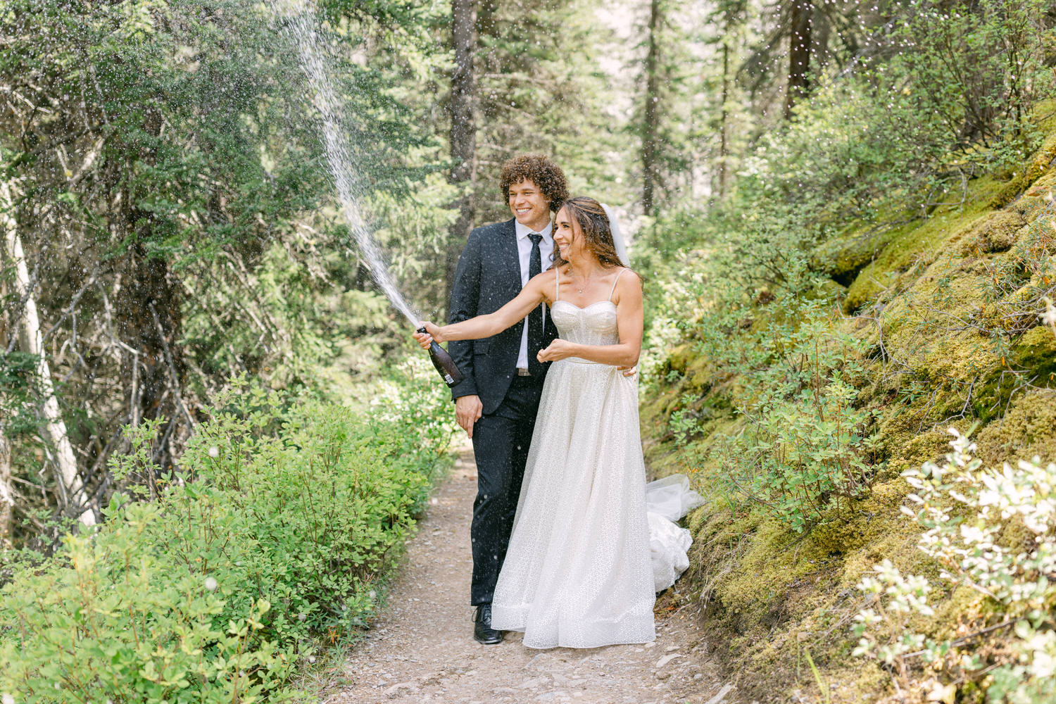
<path id="1" fill-rule="evenodd" d="M 550 216 L 568 198 L 565 174 L 546 156 L 522 154 L 503 165 L 499 191 L 513 218 L 470 233 L 455 270 L 450 323 L 497 310 L 552 264 Z M 476 607 L 473 638 L 486 645 L 503 640 L 503 632 L 491 627 L 491 596 L 510 541 L 549 366 L 535 356 L 557 336 L 549 310 L 540 305 L 491 338 L 448 344 L 466 377 L 451 389 L 455 415 L 473 439 L 476 459 L 470 603 Z"/>

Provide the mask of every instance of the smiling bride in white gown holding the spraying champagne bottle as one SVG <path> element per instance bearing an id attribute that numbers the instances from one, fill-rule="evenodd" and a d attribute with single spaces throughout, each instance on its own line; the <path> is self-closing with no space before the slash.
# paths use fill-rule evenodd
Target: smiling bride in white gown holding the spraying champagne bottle
<path id="1" fill-rule="evenodd" d="M 646 643 L 654 571 L 634 366 L 642 287 L 617 253 L 609 218 L 589 197 L 554 218 L 553 266 L 493 313 L 425 323 L 415 339 L 495 335 L 546 303 L 560 337 L 540 350 L 546 376 L 513 533 L 492 601 L 492 627 L 524 645 L 596 648 Z"/>

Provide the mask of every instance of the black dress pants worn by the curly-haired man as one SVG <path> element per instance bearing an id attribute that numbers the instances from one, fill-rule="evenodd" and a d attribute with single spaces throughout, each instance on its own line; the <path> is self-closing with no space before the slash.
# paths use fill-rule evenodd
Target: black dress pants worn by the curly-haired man
<path id="1" fill-rule="evenodd" d="M 490 604 L 506 558 L 525 476 L 528 444 L 543 393 L 542 377 L 517 377 L 494 413 L 473 425 L 476 500 L 473 501 L 473 585 L 470 603 Z"/>

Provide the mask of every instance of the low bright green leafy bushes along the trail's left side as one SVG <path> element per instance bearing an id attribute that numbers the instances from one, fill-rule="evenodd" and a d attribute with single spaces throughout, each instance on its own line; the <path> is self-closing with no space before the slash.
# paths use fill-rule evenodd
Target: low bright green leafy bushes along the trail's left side
<path id="1" fill-rule="evenodd" d="M 445 439 L 342 406 L 282 411 L 262 391 L 228 401 L 188 443 L 181 477 L 140 489 L 156 500 L 115 495 L 98 532 L 16 571 L 0 592 L 0 691 L 17 702 L 298 699 L 286 683 L 312 640 L 365 625 Z M 130 435 L 114 474 L 149 476 L 154 433 Z"/>

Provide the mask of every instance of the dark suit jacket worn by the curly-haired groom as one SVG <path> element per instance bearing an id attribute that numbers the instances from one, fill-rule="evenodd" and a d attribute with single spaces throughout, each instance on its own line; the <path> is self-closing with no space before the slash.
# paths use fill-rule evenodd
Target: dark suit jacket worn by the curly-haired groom
<path id="1" fill-rule="evenodd" d="M 449 323 L 494 312 L 521 292 L 521 259 L 514 222 L 509 220 L 486 225 L 470 232 L 451 287 Z M 466 376 L 461 383 L 452 387 L 452 397 L 476 394 L 484 404 L 484 413 L 494 413 L 516 373 L 523 328 L 522 320 L 490 338 L 452 340 L 448 343 L 448 351 Z M 543 346 L 549 345 L 555 337 L 558 328 L 547 310 Z M 534 357 L 536 353 L 539 349 L 529 345 L 529 357 Z M 548 366 L 544 365 L 544 375 Z"/>

